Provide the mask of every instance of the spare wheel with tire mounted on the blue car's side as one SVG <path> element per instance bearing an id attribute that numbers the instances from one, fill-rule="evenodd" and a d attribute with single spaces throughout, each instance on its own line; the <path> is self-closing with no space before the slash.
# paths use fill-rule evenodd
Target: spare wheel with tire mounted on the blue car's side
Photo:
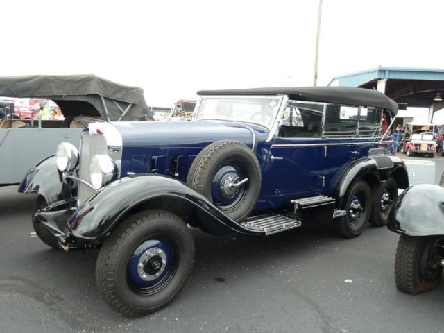
<path id="1" fill-rule="evenodd" d="M 230 187 L 248 178 L 239 187 Z M 234 140 L 214 142 L 201 151 L 189 169 L 187 185 L 235 221 L 256 205 L 262 175 L 253 151 Z"/>

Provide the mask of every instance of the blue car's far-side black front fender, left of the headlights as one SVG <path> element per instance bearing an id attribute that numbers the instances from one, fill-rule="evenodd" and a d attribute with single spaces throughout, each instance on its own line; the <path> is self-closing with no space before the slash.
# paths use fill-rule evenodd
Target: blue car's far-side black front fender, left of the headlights
<path id="1" fill-rule="evenodd" d="M 38 162 L 26 173 L 18 191 L 38 193 L 51 205 L 56 201 L 76 196 L 77 186 L 71 181 L 62 181 L 62 174 L 57 169 L 56 155 L 53 155 Z"/>

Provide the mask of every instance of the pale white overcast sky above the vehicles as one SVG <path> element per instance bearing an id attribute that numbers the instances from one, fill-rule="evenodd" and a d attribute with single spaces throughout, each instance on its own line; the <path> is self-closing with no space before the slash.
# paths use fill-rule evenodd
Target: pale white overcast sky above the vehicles
<path id="1" fill-rule="evenodd" d="M 1 1 L 0 75 L 95 74 L 148 105 L 199 89 L 313 85 L 318 0 Z M 318 85 L 444 68 L 443 0 L 323 0 Z"/>

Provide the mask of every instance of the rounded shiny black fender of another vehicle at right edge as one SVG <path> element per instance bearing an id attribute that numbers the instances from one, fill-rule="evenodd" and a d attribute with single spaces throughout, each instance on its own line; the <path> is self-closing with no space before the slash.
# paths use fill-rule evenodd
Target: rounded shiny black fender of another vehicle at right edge
<path id="1" fill-rule="evenodd" d="M 444 234 L 444 188 L 432 184 L 409 187 L 396 201 L 387 226 L 409 236 Z"/>

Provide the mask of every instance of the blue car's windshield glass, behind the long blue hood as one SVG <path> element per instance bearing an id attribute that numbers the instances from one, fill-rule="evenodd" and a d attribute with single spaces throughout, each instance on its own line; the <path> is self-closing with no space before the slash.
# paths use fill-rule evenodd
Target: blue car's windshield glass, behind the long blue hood
<path id="1" fill-rule="evenodd" d="M 271 128 L 278 112 L 278 97 L 203 97 L 196 119 L 216 119 L 259 123 Z"/>

